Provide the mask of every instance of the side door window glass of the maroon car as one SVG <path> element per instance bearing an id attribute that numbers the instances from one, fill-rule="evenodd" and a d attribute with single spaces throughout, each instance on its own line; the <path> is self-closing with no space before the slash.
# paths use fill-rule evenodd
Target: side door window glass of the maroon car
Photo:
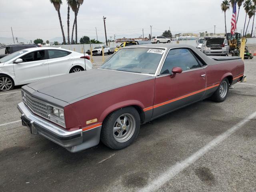
<path id="1" fill-rule="evenodd" d="M 172 73 L 172 68 L 180 67 L 183 71 L 199 68 L 200 65 L 188 49 L 172 49 L 168 52 L 160 75 Z"/>

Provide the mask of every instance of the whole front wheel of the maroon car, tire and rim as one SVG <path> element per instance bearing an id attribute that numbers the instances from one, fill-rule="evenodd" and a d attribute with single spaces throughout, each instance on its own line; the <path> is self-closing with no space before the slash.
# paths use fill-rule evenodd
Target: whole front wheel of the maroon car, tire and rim
<path id="1" fill-rule="evenodd" d="M 109 148 L 126 148 L 140 130 L 140 115 L 133 107 L 118 109 L 109 114 L 102 124 L 100 140 Z"/>

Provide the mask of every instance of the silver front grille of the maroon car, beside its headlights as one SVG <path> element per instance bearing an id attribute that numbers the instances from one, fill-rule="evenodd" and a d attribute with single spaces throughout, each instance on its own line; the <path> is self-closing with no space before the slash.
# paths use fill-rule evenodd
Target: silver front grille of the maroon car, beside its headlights
<path id="1" fill-rule="evenodd" d="M 45 102 L 42 102 L 36 98 L 33 98 L 28 94 L 26 94 L 26 100 L 27 100 L 27 105 L 30 108 L 30 110 L 32 110 L 32 112 L 40 116 L 43 116 L 45 118 L 48 118 L 48 111 L 47 111 L 47 106 Z"/>

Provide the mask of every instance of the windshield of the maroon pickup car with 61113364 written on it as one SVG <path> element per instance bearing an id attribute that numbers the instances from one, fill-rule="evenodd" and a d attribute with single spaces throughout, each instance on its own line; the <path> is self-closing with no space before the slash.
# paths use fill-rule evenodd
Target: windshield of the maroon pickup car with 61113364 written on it
<path id="1" fill-rule="evenodd" d="M 120 49 L 100 68 L 143 74 L 155 74 L 164 54 L 159 48 Z"/>

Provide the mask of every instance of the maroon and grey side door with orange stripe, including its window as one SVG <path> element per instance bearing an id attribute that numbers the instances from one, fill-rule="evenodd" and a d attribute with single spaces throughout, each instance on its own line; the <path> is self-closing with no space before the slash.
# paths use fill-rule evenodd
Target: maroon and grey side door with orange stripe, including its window
<path id="1" fill-rule="evenodd" d="M 172 76 L 172 68 L 182 73 Z M 201 62 L 188 48 L 169 50 L 159 76 L 156 76 L 153 118 L 202 99 L 206 74 Z"/>

